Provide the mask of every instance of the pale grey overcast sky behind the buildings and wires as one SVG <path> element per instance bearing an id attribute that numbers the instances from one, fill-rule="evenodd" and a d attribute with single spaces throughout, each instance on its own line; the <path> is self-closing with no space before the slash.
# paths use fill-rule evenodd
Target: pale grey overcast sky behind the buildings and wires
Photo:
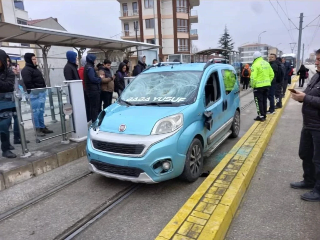
<path id="1" fill-rule="evenodd" d="M 112 37 L 121 32 L 119 20 L 120 4 L 116 0 L 50 0 L 37 1 L 25 0 L 25 10 L 29 12 L 31 19 L 55 17 L 59 23 L 72 33 L 80 33 L 99 37 Z M 281 22 L 276 11 L 284 24 Z M 285 16 L 299 28 L 300 12 L 306 16 L 303 27 L 315 19 L 319 14 L 320 1 L 214 1 L 201 0 L 200 5 L 194 9 L 198 12 L 199 23 L 192 24 L 192 29 L 198 29 L 199 40 L 193 41 L 199 50 L 209 47 L 217 47 L 224 25 L 227 24 L 230 35 L 233 37 L 235 47 L 246 42 L 257 42 L 261 34 L 261 43 L 271 46 L 278 45 L 284 53 L 291 53 L 291 42 L 298 42 L 298 30 Z M 49 13 L 50 12 L 50 13 Z M 320 18 L 310 25 L 319 25 Z M 290 30 L 290 33 L 287 29 Z M 314 35 L 316 32 L 315 37 Z M 292 33 L 292 37 L 291 37 Z M 302 43 L 305 44 L 305 58 L 313 49 L 320 48 L 320 30 L 318 27 L 306 27 L 302 30 Z M 297 50 L 297 46 L 295 47 Z"/>

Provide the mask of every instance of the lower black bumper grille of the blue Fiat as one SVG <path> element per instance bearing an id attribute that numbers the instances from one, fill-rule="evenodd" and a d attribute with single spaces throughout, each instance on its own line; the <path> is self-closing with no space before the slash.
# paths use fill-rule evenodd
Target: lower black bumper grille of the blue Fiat
<path id="1" fill-rule="evenodd" d="M 91 160 L 90 163 L 93 164 L 98 170 L 124 176 L 139 177 L 140 173 L 143 172 L 143 170 L 140 168 L 123 167 L 97 160 Z"/>

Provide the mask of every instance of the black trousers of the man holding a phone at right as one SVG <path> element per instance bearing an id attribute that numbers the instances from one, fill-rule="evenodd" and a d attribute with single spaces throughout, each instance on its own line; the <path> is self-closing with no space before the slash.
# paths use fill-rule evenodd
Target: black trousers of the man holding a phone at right
<path id="1" fill-rule="evenodd" d="M 303 178 L 320 193 L 320 131 L 302 128 L 299 146 Z"/>

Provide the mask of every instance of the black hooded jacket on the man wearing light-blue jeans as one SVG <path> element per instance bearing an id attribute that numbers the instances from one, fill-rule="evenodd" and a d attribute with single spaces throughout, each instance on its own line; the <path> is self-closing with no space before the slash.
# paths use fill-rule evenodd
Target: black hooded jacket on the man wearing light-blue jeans
<path id="1" fill-rule="evenodd" d="M 41 71 L 37 68 L 38 65 L 34 65 L 32 63 L 31 58 L 34 57 L 35 54 L 33 53 L 26 53 L 24 54 L 24 61 L 26 62 L 26 66 L 21 71 L 21 77 L 23 79 L 24 85 L 27 88 L 27 92 L 30 93 L 30 89 L 35 88 L 44 88 L 47 87 L 45 85 L 44 78 L 42 76 Z M 37 91 L 37 92 L 44 92 L 45 89 Z M 33 93 L 36 94 L 35 91 Z"/>

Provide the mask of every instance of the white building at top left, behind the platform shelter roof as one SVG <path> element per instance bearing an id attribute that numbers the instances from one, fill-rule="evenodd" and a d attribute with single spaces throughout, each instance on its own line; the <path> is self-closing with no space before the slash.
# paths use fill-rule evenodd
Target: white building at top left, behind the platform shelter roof
<path id="1" fill-rule="evenodd" d="M 0 21 L 27 25 L 28 20 L 28 12 L 24 9 L 23 0 L 0 0 Z M 23 60 L 25 53 L 34 51 L 28 48 L 29 44 L 2 42 L 0 46 L 13 61 L 18 62 Z"/>

